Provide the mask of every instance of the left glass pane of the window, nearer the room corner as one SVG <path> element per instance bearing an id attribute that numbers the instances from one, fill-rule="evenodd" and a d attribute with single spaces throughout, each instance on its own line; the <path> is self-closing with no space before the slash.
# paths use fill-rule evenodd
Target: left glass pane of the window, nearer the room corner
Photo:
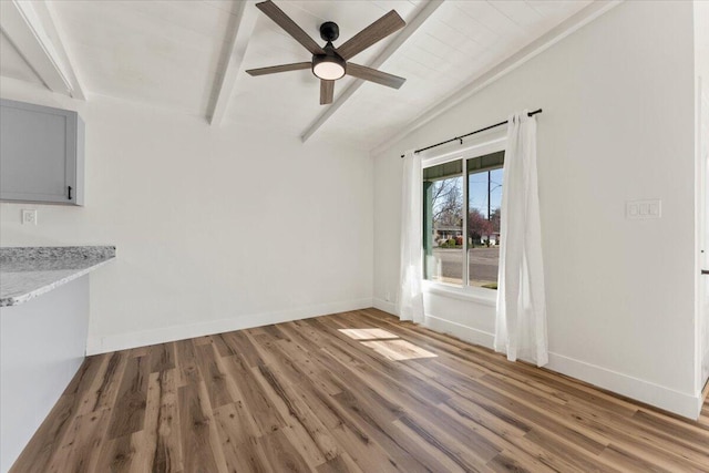
<path id="1" fill-rule="evenodd" d="M 423 277 L 463 282 L 463 176 L 456 162 L 424 169 Z"/>

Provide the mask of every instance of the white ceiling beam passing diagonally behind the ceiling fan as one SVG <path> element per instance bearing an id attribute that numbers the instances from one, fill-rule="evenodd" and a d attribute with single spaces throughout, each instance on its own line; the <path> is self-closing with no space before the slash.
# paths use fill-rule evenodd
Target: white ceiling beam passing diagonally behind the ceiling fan
<path id="1" fill-rule="evenodd" d="M 423 4 L 419 13 L 411 20 L 393 40 L 384 48 L 384 50 L 374 60 L 368 64 L 368 68 L 381 68 L 389 58 L 391 58 L 399 48 L 407 42 L 409 38 L 433 14 L 433 12 L 443 3 L 443 0 L 430 0 Z M 300 140 L 307 142 L 343 104 L 352 96 L 364 81 L 357 80 L 345 89 L 342 93 L 327 107 L 325 112 L 312 122 L 308 128 L 300 135 Z"/>

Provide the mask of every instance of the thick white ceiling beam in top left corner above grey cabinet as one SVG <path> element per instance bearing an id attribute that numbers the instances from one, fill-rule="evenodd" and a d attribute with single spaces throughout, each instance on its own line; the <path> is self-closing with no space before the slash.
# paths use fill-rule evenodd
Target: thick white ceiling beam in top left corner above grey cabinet
<path id="1" fill-rule="evenodd" d="M 0 29 L 49 90 L 85 100 L 44 1 L 0 1 Z"/>

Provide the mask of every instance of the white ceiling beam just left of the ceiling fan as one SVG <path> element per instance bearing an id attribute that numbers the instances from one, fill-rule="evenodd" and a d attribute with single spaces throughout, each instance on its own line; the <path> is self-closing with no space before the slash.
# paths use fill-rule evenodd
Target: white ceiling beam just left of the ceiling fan
<path id="1" fill-rule="evenodd" d="M 227 28 L 227 39 L 220 61 L 222 69 L 215 75 L 207 105 L 207 121 L 212 125 L 222 123 L 234 84 L 242 69 L 248 41 L 258 17 L 255 3 L 255 0 L 233 1 L 232 19 Z"/>

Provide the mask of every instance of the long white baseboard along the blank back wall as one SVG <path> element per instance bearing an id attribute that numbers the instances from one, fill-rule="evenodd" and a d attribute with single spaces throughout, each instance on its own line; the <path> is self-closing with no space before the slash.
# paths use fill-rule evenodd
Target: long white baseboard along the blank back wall
<path id="1" fill-rule="evenodd" d="M 372 307 L 372 299 L 357 299 L 342 302 L 330 302 L 318 306 L 302 307 L 276 312 L 254 313 L 229 319 L 210 320 L 202 323 L 161 327 L 152 330 L 141 330 L 129 333 L 117 333 L 105 337 L 89 337 L 86 354 L 107 353 L 130 348 L 146 347 L 167 341 L 184 340 L 205 335 L 223 333 L 271 323 L 308 319 L 327 316 L 329 313 L 346 312 Z"/>

